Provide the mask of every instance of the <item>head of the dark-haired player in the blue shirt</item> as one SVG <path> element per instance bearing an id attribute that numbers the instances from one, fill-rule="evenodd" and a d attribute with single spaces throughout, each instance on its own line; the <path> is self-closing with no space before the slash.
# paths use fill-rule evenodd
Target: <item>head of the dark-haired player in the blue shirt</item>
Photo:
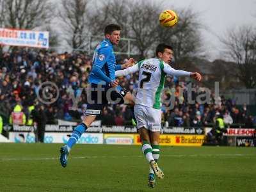
<path id="1" fill-rule="evenodd" d="M 113 45 L 117 45 L 120 40 L 121 27 L 116 24 L 109 24 L 104 29 L 104 35 Z"/>

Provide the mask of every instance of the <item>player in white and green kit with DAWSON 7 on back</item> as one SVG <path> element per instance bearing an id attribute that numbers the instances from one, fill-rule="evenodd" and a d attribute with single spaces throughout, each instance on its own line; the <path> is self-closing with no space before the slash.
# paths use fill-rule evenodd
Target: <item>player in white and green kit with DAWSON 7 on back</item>
<path id="1" fill-rule="evenodd" d="M 164 177 L 163 171 L 156 162 L 160 153 L 161 95 L 165 77 L 166 75 L 190 76 L 197 81 L 202 80 L 202 76 L 197 72 L 175 70 L 170 67 L 168 63 L 173 58 L 172 50 L 169 45 L 159 44 L 156 47 L 156 58 L 143 60 L 132 67 L 116 71 L 116 77 L 139 72 L 139 87 L 135 98 L 134 113 L 142 142 L 142 151 L 150 164 L 148 186 L 152 188 L 156 184 L 154 174 L 160 179 Z"/>

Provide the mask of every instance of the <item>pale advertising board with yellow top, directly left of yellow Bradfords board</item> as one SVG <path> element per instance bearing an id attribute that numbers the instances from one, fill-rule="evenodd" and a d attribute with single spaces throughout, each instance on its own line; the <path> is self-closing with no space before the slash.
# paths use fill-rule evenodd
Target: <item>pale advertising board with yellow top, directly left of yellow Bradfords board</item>
<path id="1" fill-rule="evenodd" d="M 133 134 L 104 134 L 104 143 L 112 145 L 132 145 Z"/>

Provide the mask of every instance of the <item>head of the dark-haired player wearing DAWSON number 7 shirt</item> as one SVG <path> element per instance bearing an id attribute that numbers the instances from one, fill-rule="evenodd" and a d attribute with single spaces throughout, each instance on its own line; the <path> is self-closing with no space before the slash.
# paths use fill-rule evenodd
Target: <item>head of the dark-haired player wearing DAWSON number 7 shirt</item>
<path id="1" fill-rule="evenodd" d="M 156 57 L 164 61 L 164 63 L 170 63 L 173 59 L 173 48 L 166 44 L 157 45 Z"/>

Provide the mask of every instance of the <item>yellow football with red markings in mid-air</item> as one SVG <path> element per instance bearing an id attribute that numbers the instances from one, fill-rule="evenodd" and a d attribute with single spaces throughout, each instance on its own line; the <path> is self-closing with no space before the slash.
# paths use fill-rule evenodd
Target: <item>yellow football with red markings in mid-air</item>
<path id="1" fill-rule="evenodd" d="M 159 15 L 159 22 L 161 26 L 171 28 L 178 22 L 178 15 L 172 10 L 165 10 Z"/>

